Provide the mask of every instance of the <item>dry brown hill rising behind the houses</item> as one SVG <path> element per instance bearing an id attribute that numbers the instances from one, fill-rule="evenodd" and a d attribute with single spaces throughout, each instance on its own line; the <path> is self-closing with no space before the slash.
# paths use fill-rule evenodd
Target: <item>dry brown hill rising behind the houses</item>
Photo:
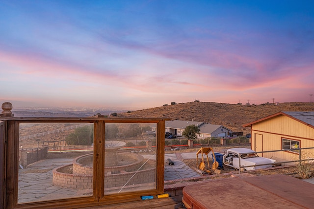
<path id="1" fill-rule="evenodd" d="M 314 111 L 308 102 L 286 102 L 279 105 L 240 105 L 215 102 L 187 102 L 175 105 L 119 113 L 116 117 L 162 117 L 178 120 L 208 122 L 223 125 L 234 132 L 249 133 L 242 125 L 283 111 Z"/>

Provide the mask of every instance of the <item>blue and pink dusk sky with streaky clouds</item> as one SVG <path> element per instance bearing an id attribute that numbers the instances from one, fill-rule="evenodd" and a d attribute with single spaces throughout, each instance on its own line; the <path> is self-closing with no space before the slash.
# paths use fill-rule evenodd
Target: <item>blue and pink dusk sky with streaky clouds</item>
<path id="1" fill-rule="evenodd" d="M 310 102 L 314 1 L 0 0 L 0 84 L 13 107 Z"/>

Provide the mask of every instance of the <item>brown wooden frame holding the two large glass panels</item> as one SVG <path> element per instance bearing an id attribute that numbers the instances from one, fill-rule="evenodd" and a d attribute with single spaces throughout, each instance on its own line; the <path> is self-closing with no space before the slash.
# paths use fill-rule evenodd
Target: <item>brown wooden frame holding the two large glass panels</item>
<path id="1" fill-rule="evenodd" d="M 141 196 L 162 194 L 164 186 L 164 130 L 165 118 L 5 118 L 1 127 L 4 141 L 1 144 L 4 158 L 4 181 L 1 186 L 1 202 L 3 209 L 71 209 L 109 205 L 114 203 L 140 200 Z M 94 157 L 93 157 L 93 194 L 89 197 L 54 199 L 49 201 L 18 204 L 18 155 L 19 155 L 19 124 L 20 123 L 93 123 L 94 124 Z M 105 164 L 105 124 L 106 123 L 157 123 L 156 148 L 156 189 L 126 192 L 120 194 L 104 194 Z M 1 132 L 2 133 L 2 132 Z M 1 138 L 0 138 L 1 139 Z M 0 184 L 1 185 L 1 184 Z"/>

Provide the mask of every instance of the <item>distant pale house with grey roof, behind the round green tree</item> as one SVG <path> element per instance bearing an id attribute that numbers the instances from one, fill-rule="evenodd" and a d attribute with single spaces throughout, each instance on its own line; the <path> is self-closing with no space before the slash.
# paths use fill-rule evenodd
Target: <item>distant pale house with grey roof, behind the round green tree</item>
<path id="1" fill-rule="evenodd" d="M 186 120 L 166 121 L 165 132 L 169 132 L 177 136 L 182 136 L 185 127 L 189 125 L 196 125 L 200 128 L 200 134 L 198 138 L 227 137 L 231 133 L 230 129 L 222 125 L 214 125 L 214 124 L 209 124 L 205 122 L 186 121 Z M 151 128 L 152 128 L 152 131 L 156 131 L 156 127 L 152 126 Z"/>

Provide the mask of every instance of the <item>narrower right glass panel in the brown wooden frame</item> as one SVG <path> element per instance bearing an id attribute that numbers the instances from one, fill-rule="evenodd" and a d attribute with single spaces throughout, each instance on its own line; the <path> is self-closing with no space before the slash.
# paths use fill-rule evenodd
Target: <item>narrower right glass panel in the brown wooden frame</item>
<path id="1" fill-rule="evenodd" d="M 105 195 L 157 188 L 156 127 L 105 124 Z"/>

